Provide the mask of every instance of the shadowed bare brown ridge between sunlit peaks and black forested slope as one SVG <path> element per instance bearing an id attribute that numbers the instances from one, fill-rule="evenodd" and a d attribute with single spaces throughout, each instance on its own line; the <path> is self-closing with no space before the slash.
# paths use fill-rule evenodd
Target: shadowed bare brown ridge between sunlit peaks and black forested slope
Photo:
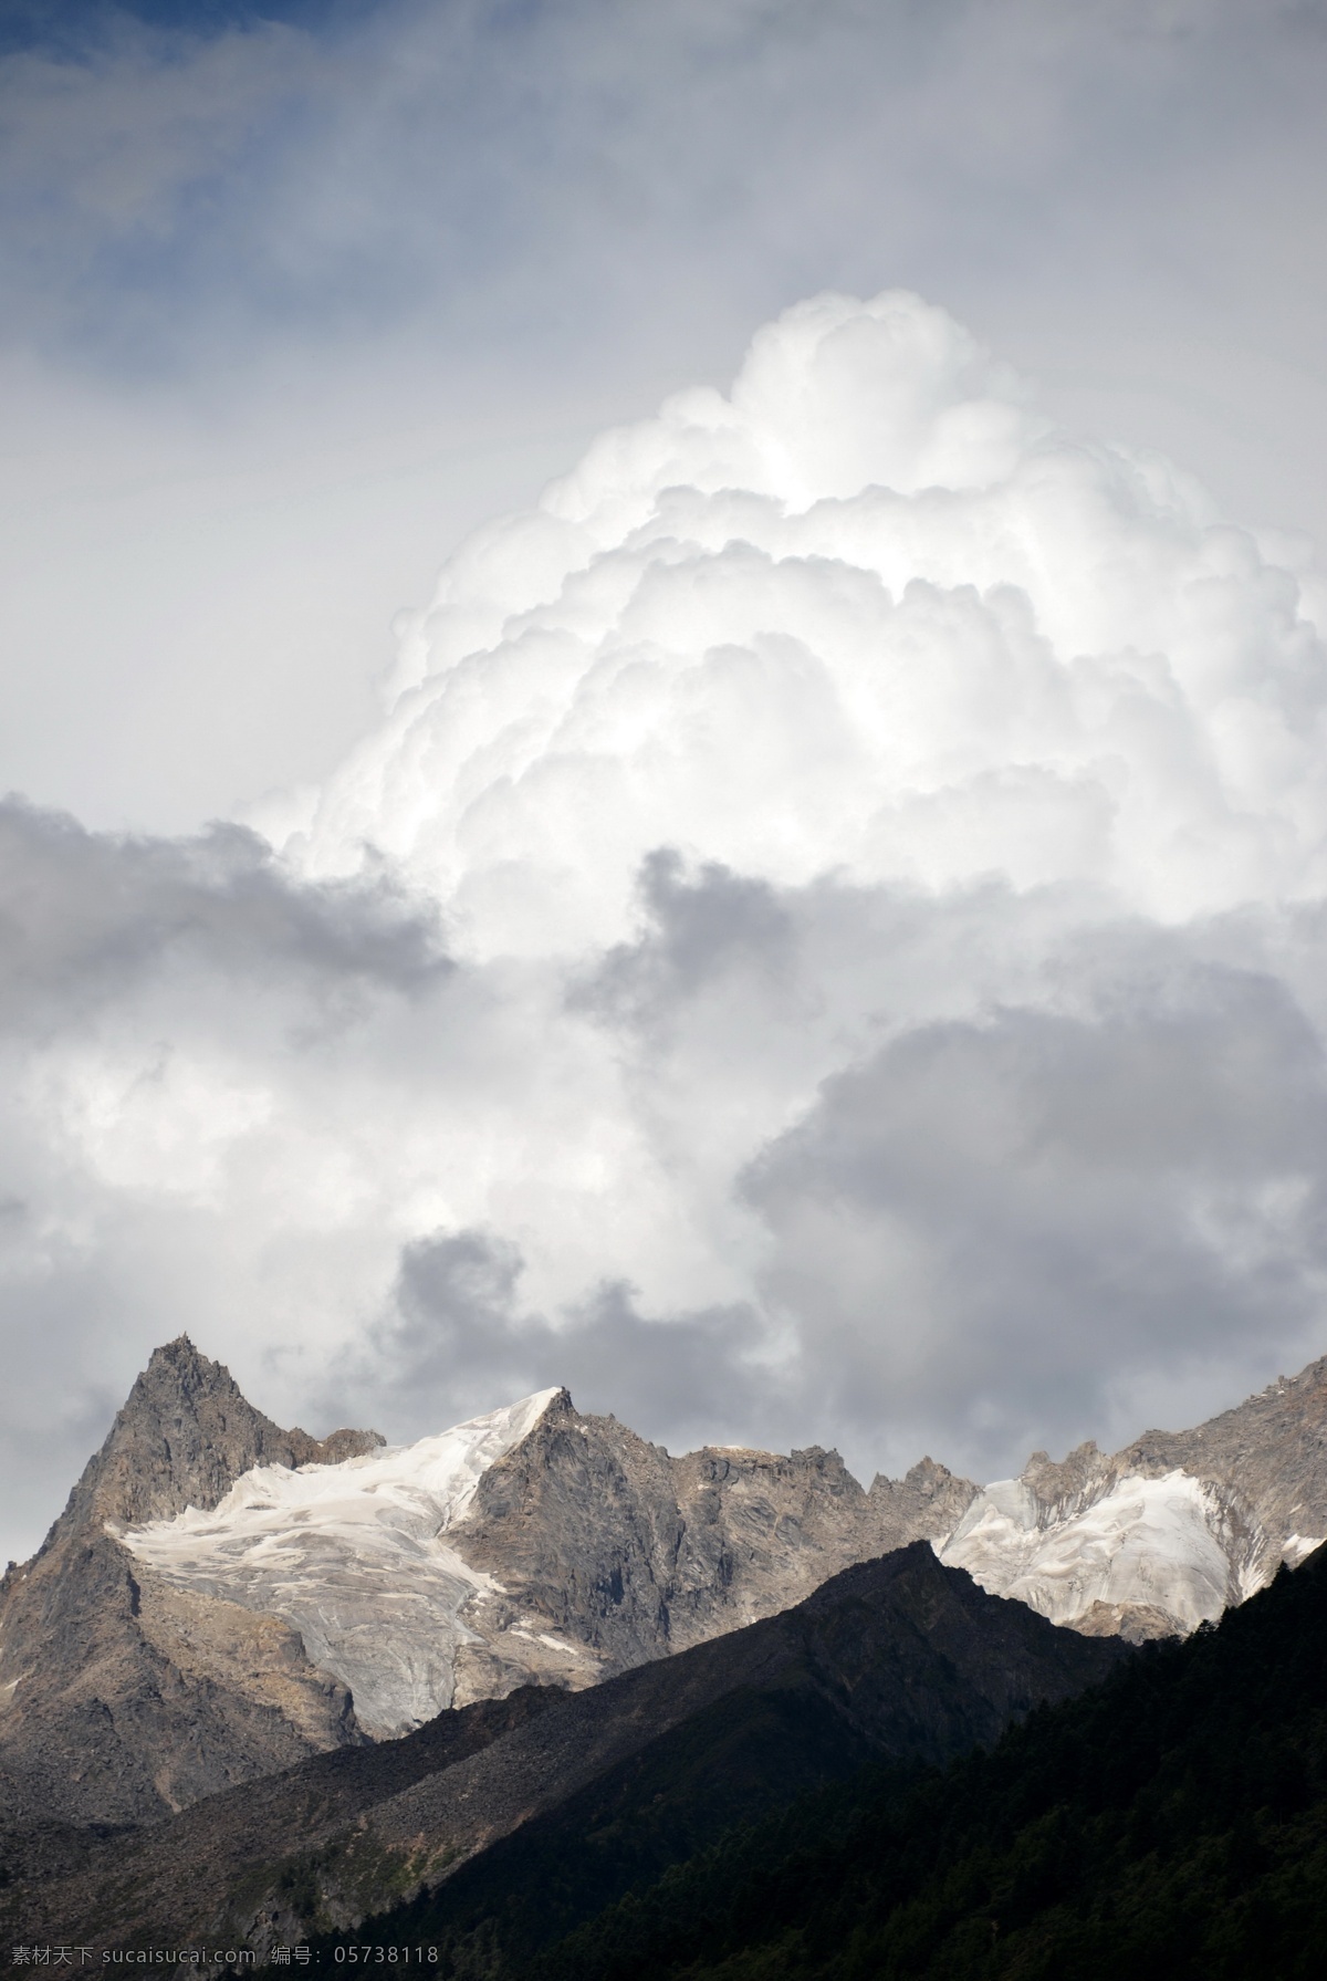
<path id="1" fill-rule="evenodd" d="M 774 1720 L 757 1759 L 776 1801 L 871 1755 L 941 1761 L 988 1741 L 1121 1656 L 1119 1644 L 1056 1630 L 943 1569 L 929 1547 L 909 1547 L 860 1563 L 796 1609 L 590 1692 L 525 1688 L 442 1714 L 400 1741 L 321 1755 L 143 1838 L 93 1846 L 83 1870 L 22 1892 L 4 1924 L 16 1937 L 57 1929 L 93 1949 L 267 1949 L 436 1886 L 715 1710 L 725 1723 Z M 800 1777 L 786 1723 L 804 1729 Z M 715 1793 L 723 1801 L 723 1783 Z"/>

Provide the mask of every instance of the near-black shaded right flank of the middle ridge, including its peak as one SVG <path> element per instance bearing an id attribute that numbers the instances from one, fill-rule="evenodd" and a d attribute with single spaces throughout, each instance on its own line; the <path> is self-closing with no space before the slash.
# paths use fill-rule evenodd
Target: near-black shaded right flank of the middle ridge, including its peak
<path id="1" fill-rule="evenodd" d="M 580 1694 L 580 1714 L 650 1737 L 347 1939 L 436 1945 L 444 1973 L 525 1975 L 549 1941 L 735 1825 L 854 1783 L 868 1763 L 911 1781 L 1131 1656 L 1117 1638 L 1083 1638 L 986 1595 L 917 1543 L 782 1616 Z M 689 1676 L 701 1664 L 721 1682 L 701 1690 Z M 683 1684 L 679 1714 L 669 1698 Z M 335 1941 L 325 1955 L 335 1961 Z"/>

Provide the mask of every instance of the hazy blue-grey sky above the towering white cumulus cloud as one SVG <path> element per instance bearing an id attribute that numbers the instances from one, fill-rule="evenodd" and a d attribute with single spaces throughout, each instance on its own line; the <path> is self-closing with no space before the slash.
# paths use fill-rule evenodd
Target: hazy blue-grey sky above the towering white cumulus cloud
<path id="1" fill-rule="evenodd" d="M 133 12 L 0 30 L 4 788 L 170 832 L 323 777 L 450 541 L 820 287 L 1323 535 L 1315 8 Z"/>

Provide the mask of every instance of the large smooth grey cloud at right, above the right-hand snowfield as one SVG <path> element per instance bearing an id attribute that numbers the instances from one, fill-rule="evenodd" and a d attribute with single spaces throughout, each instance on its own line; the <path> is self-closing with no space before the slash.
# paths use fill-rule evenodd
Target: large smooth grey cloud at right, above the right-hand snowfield
<path id="1" fill-rule="evenodd" d="M 992 1456 L 1038 1420 L 1111 1420 L 1149 1367 L 1317 1339 L 1321 1038 L 1264 977 L 1097 990 L 1093 1018 L 903 1034 L 747 1171 L 765 1296 L 806 1315 L 830 1418 L 945 1412 Z"/>

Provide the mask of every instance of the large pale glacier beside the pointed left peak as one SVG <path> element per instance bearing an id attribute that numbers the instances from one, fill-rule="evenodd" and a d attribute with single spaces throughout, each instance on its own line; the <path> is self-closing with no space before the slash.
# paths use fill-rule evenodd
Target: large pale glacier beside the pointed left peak
<path id="1" fill-rule="evenodd" d="M 313 1664 L 351 1688 L 366 1733 L 406 1733 L 454 1702 L 456 1652 L 479 1642 L 465 1607 L 503 1593 L 446 1535 L 557 1395 L 343 1464 L 255 1466 L 212 1512 L 190 1506 L 117 1537 L 176 1587 L 293 1624 Z"/>

